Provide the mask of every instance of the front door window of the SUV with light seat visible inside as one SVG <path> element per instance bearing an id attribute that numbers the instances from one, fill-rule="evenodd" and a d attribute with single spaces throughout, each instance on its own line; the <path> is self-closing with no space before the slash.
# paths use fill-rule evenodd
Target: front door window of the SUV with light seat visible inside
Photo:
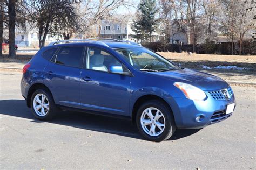
<path id="1" fill-rule="evenodd" d="M 113 55 L 99 48 L 89 48 L 87 56 L 87 69 L 99 70 L 108 72 L 112 65 L 122 66 Z"/>

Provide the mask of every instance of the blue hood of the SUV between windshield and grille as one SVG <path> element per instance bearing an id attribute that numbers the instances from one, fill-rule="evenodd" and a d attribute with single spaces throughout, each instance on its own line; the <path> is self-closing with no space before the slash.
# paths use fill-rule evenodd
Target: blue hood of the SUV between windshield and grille
<path id="1" fill-rule="evenodd" d="M 153 73 L 153 72 L 151 72 Z M 217 90 L 228 87 L 228 83 L 217 76 L 199 72 L 192 69 L 180 69 L 168 72 L 156 72 L 174 82 L 184 82 L 196 86 L 202 90 Z"/>

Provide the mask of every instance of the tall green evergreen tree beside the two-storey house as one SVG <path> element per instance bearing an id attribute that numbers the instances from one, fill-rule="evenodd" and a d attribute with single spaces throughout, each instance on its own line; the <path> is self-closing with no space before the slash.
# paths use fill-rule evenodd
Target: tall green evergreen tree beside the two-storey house
<path id="1" fill-rule="evenodd" d="M 150 38 L 152 40 L 152 32 L 157 31 L 157 8 L 156 0 L 142 0 L 138 5 L 137 17 L 133 22 L 132 30 L 142 39 Z"/>

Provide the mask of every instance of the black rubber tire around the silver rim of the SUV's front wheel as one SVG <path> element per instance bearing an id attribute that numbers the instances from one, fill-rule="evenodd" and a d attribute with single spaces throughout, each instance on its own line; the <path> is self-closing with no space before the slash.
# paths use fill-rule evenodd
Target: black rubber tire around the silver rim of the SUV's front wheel
<path id="1" fill-rule="evenodd" d="M 146 108 L 150 108 L 150 107 L 159 109 L 165 118 L 165 129 L 161 134 L 159 134 L 159 136 L 156 136 L 156 137 L 150 136 L 149 134 L 144 132 L 142 125 L 140 124 L 140 117 L 142 116 L 143 111 Z M 174 133 L 174 131 L 176 130 L 176 126 L 174 124 L 174 119 L 173 119 L 171 109 L 168 108 L 165 103 L 158 101 L 158 100 L 147 101 L 139 107 L 139 109 L 137 111 L 137 115 L 136 115 L 136 124 L 137 124 L 140 134 L 142 134 L 142 136 L 144 138 L 151 140 L 151 141 L 166 140 L 166 139 L 170 138 L 172 136 L 172 134 Z"/>

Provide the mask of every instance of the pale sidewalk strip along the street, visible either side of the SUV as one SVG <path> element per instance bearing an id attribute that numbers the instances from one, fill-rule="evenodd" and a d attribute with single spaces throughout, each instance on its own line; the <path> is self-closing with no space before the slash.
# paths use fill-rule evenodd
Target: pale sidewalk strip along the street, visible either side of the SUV
<path id="1" fill-rule="evenodd" d="M 0 62 L 1 70 L 21 71 L 26 62 Z M 231 84 L 248 84 L 256 86 L 256 76 L 253 72 L 227 72 L 227 70 L 201 70 L 201 72 L 209 73 Z"/>

